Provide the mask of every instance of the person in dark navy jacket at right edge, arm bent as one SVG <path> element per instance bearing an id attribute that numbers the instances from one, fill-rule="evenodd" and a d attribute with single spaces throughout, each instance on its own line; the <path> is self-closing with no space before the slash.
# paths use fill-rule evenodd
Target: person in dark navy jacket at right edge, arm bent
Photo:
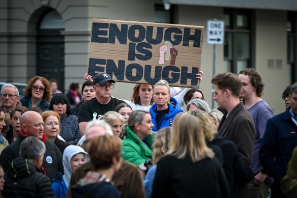
<path id="1" fill-rule="evenodd" d="M 261 172 L 273 177 L 272 197 L 286 197 L 280 189 L 292 152 L 297 147 L 297 82 L 290 88 L 291 106 L 268 120 L 259 151 Z"/>

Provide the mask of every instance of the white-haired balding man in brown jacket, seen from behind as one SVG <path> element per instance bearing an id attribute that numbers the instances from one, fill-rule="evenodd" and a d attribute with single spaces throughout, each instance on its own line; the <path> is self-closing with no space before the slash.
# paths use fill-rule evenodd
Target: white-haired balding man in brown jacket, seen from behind
<path id="1" fill-rule="evenodd" d="M 88 140 L 91 138 L 105 134 L 112 134 L 112 130 L 106 122 L 89 122 L 85 130 L 86 146 Z M 94 165 L 91 163 L 91 161 L 80 165 L 72 172 L 66 197 L 71 197 L 71 186 L 76 185 L 77 182 L 83 178 L 88 171 L 95 171 Z M 118 191 L 122 193 L 123 197 L 145 198 L 145 191 L 140 171 L 135 165 L 123 160 L 120 171 L 117 171 L 113 175 L 112 181 L 114 182 Z"/>

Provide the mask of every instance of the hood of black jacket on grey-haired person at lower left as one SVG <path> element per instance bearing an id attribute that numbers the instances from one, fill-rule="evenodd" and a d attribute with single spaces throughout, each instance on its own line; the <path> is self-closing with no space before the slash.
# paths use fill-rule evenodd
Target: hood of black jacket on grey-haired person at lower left
<path id="1" fill-rule="evenodd" d="M 11 167 L 7 172 L 7 177 L 12 180 L 19 180 L 29 177 L 36 172 L 36 167 L 27 159 L 16 158 L 11 162 Z"/>

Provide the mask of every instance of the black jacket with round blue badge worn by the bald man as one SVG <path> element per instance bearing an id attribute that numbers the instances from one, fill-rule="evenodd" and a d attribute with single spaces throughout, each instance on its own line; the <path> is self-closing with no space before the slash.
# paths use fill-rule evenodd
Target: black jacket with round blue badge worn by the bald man
<path id="1" fill-rule="evenodd" d="M 45 139 L 45 134 L 43 135 L 43 142 L 45 144 L 46 151 L 44 154 L 42 166 L 46 175 L 49 177 L 50 180 L 52 180 L 58 171 L 64 173 L 62 154 L 57 146 L 53 142 Z M 0 163 L 3 166 L 5 173 L 10 168 L 11 162 L 15 158 L 20 156 L 20 145 L 22 140 L 24 140 L 25 138 L 26 136 L 23 135 L 22 132 L 20 132 L 17 140 L 2 151 L 0 155 Z"/>

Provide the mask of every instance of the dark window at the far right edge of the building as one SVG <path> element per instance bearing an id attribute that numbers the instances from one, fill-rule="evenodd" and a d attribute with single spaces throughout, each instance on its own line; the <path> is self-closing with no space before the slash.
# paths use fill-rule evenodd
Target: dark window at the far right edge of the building
<path id="1" fill-rule="evenodd" d="M 288 12 L 287 21 L 287 85 L 297 80 L 297 15 L 296 12 Z"/>

